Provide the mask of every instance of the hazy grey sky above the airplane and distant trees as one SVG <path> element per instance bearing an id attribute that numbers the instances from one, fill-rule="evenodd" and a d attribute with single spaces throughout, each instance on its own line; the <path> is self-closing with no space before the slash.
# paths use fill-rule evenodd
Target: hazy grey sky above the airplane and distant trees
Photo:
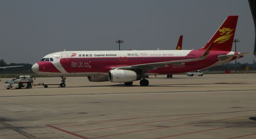
<path id="1" fill-rule="evenodd" d="M 65 48 L 118 50 L 118 38 L 122 50 L 174 50 L 184 35 L 182 49 L 199 49 L 229 15 L 239 16 L 237 51 L 253 52 L 247 0 L 0 0 L 0 59 L 34 64 Z"/>

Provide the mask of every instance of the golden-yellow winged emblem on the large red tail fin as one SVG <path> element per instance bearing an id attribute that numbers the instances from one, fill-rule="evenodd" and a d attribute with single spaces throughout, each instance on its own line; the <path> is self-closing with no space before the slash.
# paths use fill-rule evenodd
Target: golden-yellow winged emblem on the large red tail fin
<path id="1" fill-rule="evenodd" d="M 223 36 L 220 36 L 219 38 L 217 38 L 213 43 L 216 42 L 217 44 L 222 44 L 222 43 L 226 42 L 234 35 L 234 33 L 231 34 L 233 32 L 233 30 L 234 29 L 230 29 L 230 28 L 219 29 L 220 35 L 223 35 Z"/>

